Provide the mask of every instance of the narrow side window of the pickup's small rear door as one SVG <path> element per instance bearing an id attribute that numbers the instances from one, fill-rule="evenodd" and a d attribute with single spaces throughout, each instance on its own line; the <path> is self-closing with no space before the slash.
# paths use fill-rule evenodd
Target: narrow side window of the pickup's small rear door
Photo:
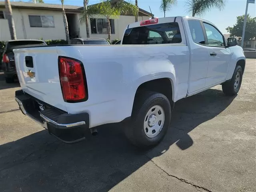
<path id="1" fill-rule="evenodd" d="M 189 30 L 194 42 L 205 44 L 204 33 L 199 20 L 188 20 Z"/>

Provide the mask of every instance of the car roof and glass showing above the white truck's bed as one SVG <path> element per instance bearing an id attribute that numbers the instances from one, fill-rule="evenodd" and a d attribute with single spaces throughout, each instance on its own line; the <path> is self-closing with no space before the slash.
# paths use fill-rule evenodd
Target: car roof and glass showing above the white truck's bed
<path id="1" fill-rule="evenodd" d="M 74 38 L 68 44 L 70 45 L 109 45 L 104 38 Z"/>

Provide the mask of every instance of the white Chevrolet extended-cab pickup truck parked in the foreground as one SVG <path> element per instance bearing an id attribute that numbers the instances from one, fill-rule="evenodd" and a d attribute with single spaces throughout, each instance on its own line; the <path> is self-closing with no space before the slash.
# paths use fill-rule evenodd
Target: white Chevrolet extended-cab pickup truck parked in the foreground
<path id="1" fill-rule="evenodd" d="M 121 45 L 56 45 L 14 50 L 24 114 L 64 142 L 127 122 L 139 147 L 158 144 L 174 103 L 218 84 L 237 94 L 245 56 L 211 22 L 152 18 L 129 24 Z M 127 120 L 127 121 L 126 121 Z"/>

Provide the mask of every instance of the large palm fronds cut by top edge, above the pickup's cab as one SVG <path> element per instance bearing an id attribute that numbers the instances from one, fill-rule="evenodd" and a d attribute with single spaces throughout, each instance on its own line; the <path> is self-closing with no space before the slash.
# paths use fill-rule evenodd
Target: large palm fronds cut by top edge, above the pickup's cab
<path id="1" fill-rule="evenodd" d="M 202 16 L 212 8 L 221 10 L 226 4 L 226 0 L 187 0 L 188 12 L 192 12 L 192 16 Z"/>

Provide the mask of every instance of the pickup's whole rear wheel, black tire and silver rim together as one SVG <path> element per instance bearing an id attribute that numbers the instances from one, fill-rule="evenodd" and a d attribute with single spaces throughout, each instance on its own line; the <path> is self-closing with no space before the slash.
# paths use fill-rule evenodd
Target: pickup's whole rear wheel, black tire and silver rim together
<path id="1" fill-rule="evenodd" d="M 134 103 L 126 136 L 138 147 L 155 146 L 164 138 L 170 119 L 171 106 L 166 96 L 156 92 L 141 94 Z"/>

